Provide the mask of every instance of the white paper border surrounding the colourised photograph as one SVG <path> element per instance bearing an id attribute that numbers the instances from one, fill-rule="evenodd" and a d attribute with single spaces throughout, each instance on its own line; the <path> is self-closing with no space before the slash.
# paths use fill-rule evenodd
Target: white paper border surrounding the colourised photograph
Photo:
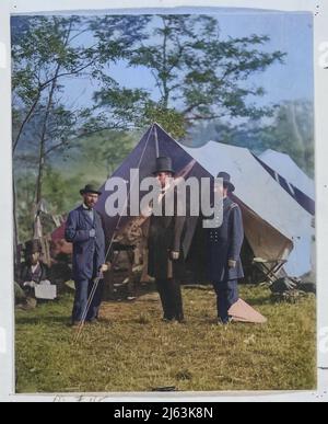
<path id="1" fill-rule="evenodd" d="M 314 19 L 315 39 L 315 131 L 316 131 L 316 207 L 317 207 L 317 282 L 318 282 L 318 390 L 316 392 L 253 393 L 110 393 L 62 397 L 14 394 L 14 298 L 12 248 L 12 168 L 11 168 L 11 69 L 10 15 L 15 13 L 71 11 L 117 13 L 124 9 L 152 8 L 250 8 L 268 11 L 309 11 Z M 145 10 L 143 10 L 145 12 Z M 178 11 L 176 11 L 178 12 Z M 251 12 L 251 11 L 250 11 Z M 1 0 L 0 1 L 0 401 L 327 401 L 328 387 L 328 4 L 324 0 Z M 300 46 L 302 48 L 302 46 Z M 326 277 L 327 276 L 327 277 Z M 302 366 L 302 364 L 300 364 Z"/>

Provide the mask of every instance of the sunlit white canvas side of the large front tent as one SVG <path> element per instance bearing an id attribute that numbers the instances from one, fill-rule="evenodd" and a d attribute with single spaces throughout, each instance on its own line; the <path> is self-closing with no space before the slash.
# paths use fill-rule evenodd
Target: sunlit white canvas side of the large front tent
<path id="1" fill-rule="evenodd" d="M 254 158 L 248 149 L 210 141 L 186 149 L 212 175 L 229 172 L 236 185 L 245 234 L 255 255 L 285 257 L 285 271 L 302 276 L 312 270 L 312 216 Z"/>

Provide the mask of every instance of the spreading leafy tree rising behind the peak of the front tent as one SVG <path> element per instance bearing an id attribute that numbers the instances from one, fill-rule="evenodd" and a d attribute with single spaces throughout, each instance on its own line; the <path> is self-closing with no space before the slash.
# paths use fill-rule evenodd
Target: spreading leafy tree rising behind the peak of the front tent
<path id="1" fill-rule="evenodd" d="M 195 122 L 259 118 L 272 112 L 251 103 L 265 92 L 247 84 L 251 75 L 283 61 L 281 51 L 262 50 L 268 36 L 223 39 L 219 22 L 209 15 L 154 16 L 144 31 L 148 39 L 129 53 L 130 66 L 149 69 L 159 91 L 159 100 L 143 98 L 143 125 L 157 121 L 181 137 Z M 110 90 L 96 99 L 110 105 Z M 138 123 L 138 105 L 134 110 Z"/>

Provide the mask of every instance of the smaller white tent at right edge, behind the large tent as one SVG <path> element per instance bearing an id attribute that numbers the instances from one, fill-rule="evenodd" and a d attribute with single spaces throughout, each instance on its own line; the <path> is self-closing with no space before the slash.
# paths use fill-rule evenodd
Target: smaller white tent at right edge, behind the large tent
<path id="1" fill-rule="evenodd" d="M 315 183 L 288 154 L 269 149 L 257 160 L 295 202 L 315 215 Z"/>

